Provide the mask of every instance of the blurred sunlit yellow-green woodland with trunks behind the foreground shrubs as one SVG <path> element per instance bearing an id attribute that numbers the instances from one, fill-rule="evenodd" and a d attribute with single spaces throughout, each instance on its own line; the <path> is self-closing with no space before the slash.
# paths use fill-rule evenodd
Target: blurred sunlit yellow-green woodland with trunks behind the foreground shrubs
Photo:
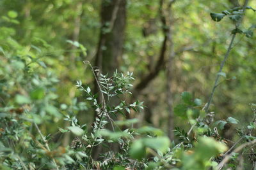
<path id="1" fill-rule="evenodd" d="M 43 75 L 38 79 L 44 82 L 47 77 L 47 81 L 54 83 L 49 88 L 57 96 L 49 97 L 54 102 L 46 110 L 56 117 L 43 117 L 49 120 L 41 125 L 43 132 L 65 127 L 61 115 L 76 115 L 83 123 L 92 124 L 95 112 L 75 86 L 77 80 L 95 86 L 92 71 L 84 60 L 110 76 L 116 69 L 134 73 L 133 96 L 125 100 L 144 101 L 146 107 L 142 113 L 129 115 L 140 118 L 140 125 L 163 129 L 173 138 L 170 130 L 187 124 L 173 113 L 173 108 L 180 103 L 184 91 L 202 99 L 202 104 L 207 103 L 230 42 L 230 31 L 234 29 L 232 20 L 214 22 L 209 13 L 244 2 L 180 0 L 172 6 L 168 3 L 164 0 L 0 1 L 0 53 L 8 51 L 10 56 L 22 56 L 27 63 L 31 62 L 31 69 Z M 255 8 L 255 1 L 248 5 Z M 244 28 L 255 22 L 253 13 L 246 10 Z M 210 106 L 215 120 L 230 116 L 240 122 L 252 120 L 248 104 L 255 103 L 256 96 L 255 54 L 255 37 L 238 34 L 223 69 L 227 77 L 221 77 Z M 6 106 L 4 101 L 24 102 L 19 100 L 20 96 L 16 101 L 8 101 L 25 91 L 24 87 L 12 84 L 12 80 L 24 80 L 20 63 L 15 63 L 17 69 L 5 74 L 2 66 L 6 62 L 3 58 L 0 62 L 1 82 L 10 81 L 8 86 L 1 86 L 0 106 Z M 51 83 L 45 81 L 44 85 Z M 38 118 L 38 123 L 44 121 L 36 115 L 33 118 Z M 72 140 L 70 135 L 63 138 L 63 145 Z"/>

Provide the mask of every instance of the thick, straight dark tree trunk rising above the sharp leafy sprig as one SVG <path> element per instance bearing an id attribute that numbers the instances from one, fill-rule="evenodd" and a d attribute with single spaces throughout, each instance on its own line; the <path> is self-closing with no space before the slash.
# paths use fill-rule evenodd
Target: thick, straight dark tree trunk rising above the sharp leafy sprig
<path id="1" fill-rule="evenodd" d="M 102 1 L 101 30 L 95 66 L 103 74 L 113 74 L 122 55 L 126 22 L 126 1 Z"/>

